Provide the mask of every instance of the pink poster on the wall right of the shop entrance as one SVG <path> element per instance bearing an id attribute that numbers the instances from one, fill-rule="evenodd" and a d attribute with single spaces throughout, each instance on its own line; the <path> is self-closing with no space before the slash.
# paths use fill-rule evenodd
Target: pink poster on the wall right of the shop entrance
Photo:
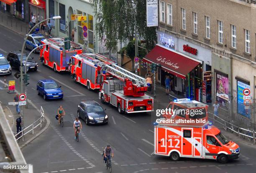
<path id="1" fill-rule="evenodd" d="M 216 75 L 217 102 L 221 107 L 228 109 L 228 77 L 219 73 Z"/>

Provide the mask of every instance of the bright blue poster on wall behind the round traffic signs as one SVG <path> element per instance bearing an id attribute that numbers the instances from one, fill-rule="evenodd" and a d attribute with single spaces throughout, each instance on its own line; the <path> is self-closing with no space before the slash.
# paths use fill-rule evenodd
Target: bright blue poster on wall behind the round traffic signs
<path id="1" fill-rule="evenodd" d="M 243 104 L 243 90 L 245 88 L 251 89 L 250 85 L 237 81 L 237 113 L 246 118 L 251 118 L 249 106 Z"/>

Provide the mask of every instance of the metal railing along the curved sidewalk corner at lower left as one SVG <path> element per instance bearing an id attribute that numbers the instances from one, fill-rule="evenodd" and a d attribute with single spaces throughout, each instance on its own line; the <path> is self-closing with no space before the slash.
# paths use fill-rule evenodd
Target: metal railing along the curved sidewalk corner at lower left
<path id="1" fill-rule="evenodd" d="M 14 135 L 14 137 L 16 138 L 16 141 L 20 140 L 21 138 L 22 138 L 22 141 L 24 141 L 24 136 L 31 131 L 32 131 L 32 134 L 34 134 L 34 129 L 37 128 L 38 125 L 40 125 L 40 128 L 42 128 L 42 122 L 44 122 L 44 109 L 42 108 L 42 106 L 41 106 L 40 112 L 41 112 L 40 118 L 38 118 L 34 123 L 29 125 L 28 127 L 22 128 L 22 130 L 19 133 L 16 133 Z"/>

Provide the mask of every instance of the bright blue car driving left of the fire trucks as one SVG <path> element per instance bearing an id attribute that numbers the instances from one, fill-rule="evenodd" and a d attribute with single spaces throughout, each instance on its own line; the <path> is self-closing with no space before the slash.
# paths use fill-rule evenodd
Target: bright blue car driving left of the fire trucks
<path id="1" fill-rule="evenodd" d="M 61 86 L 51 79 L 39 80 L 36 85 L 37 94 L 43 95 L 44 100 L 62 99 L 63 91 L 60 88 Z"/>

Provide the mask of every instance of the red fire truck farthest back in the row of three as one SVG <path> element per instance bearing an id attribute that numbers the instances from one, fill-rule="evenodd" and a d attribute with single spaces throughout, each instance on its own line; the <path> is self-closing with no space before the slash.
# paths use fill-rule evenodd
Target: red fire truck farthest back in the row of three
<path id="1" fill-rule="evenodd" d="M 41 40 L 44 45 L 40 50 L 40 60 L 43 65 L 47 65 L 57 71 L 67 71 L 69 66 L 69 59 L 74 54 L 82 53 L 82 48 L 70 41 L 70 49 L 65 50 L 64 38 L 49 38 Z"/>

